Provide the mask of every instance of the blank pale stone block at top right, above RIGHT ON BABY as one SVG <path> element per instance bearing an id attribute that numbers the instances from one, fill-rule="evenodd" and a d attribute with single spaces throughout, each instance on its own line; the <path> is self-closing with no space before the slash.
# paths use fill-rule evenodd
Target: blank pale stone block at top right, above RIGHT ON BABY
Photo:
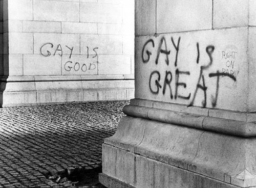
<path id="1" fill-rule="evenodd" d="M 229 28 L 248 25 L 249 1 L 214 1 L 213 28 Z"/>

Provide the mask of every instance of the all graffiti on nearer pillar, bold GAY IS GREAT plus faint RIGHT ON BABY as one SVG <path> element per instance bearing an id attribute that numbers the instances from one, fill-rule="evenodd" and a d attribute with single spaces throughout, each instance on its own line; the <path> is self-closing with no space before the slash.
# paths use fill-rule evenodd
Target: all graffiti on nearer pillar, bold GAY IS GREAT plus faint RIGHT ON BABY
<path id="1" fill-rule="evenodd" d="M 233 82 L 237 81 L 237 75 L 239 73 L 235 71 L 231 71 L 230 67 L 233 68 L 234 65 L 234 60 L 236 59 L 237 51 L 231 51 L 231 52 L 225 52 L 223 51 L 223 59 L 227 60 L 226 66 L 229 69 L 222 69 L 222 70 L 216 70 L 214 72 L 209 72 L 210 68 L 214 64 L 214 58 L 213 54 L 215 52 L 215 46 L 214 45 L 208 45 L 205 47 L 205 51 L 200 51 L 200 43 L 195 43 L 195 54 L 197 56 L 195 60 L 195 64 L 198 64 L 198 72 L 199 76 L 197 77 L 197 84 L 196 87 L 194 88 L 193 91 L 188 91 L 188 94 L 185 95 L 180 94 L 179 90 L 181 87 L 185 89 L 187 87 L 187 84 L 182 80 L 181 78 L 189 79 L 189 76 L 191 72 L 189 70 L 180 70 L 179 67 L 179 62 L 178 62 L 178 57 L 179 57 L 179 52 L 180 52 L 180 45 L 182 43 L 182 38 L 173 38 L 170 37 L 170 44 L 171 47 L 174 49 L 174 54 L 170 54 L 170 49 L 168 49 L 167 44 L 166 44 L 166 38 L 163 36 L 160 39 L 160 42 L 158 43 L 158 46 L 156 45 L 155 40 L 150 39 L 147 40 L 142 48 L 142 62 L 144 64 L 148 64 L 148 62 L 154 62 L 157 66 L 159 65 L 159 59 L 162 57 L 164 59 L 164 63 L 169 67 L 171 62 L 170 62 L 170 56 L 174 56 L 174 67 L 175 71 L 169 71 L 166 70 L 164 73 L 160 73 L 158 70 L 154 70 L 151 72 L 149 75 L 148 79 L 148 87 L 151 91 L 152 94 L 158 95 L 160 92 L 162 92 L 163 95 L 166 95 L 167 89 L 169 93 L 169 98 L 171 100 L 187 100 L 188 101 L 188 106 L 194 105 L 195 99 L 199 93 L 199 91 L 203 92 L 203 98 L 201 99 L 201 104 L 202 107 L 206 107 L 207 105 L 207 85 L 209 84 L 215 84 L 215 93 L 211 93 L 211 106 L 212 108 L 215 108 L 218 102 L 218 95 L 219 95 L 219 86 L 220 86 L 220 79 L 222 77 L 225 77 L 223 79 L 231 79 Z M 202 48 L 201 48 L 202 49 Z M 155 55 L 153 56 L 153 53 Z M 200 56 L 205 55 L 206 53 L 208 60 L 205 62 L 204 60 L 200 60 Z M 156 57 L 155 59 L 152 59 L 152 57 Z M 190 62 L 189 62 L 190 63 Z M 201 66 L 200 66 L 201 64 Z M 165 66 L 166 66 L 165 65 Z M 211 83 L 206 83 L 206 76 L 208 79 L 211 80 Z M 213 79 L 215 78 L 215 79 Z M 216 80 L 216 81 L 215 81 Z M 174 85 L 172 83 L 175 83 Z M 172 88 L 172 86 L 175 86 Z"/>

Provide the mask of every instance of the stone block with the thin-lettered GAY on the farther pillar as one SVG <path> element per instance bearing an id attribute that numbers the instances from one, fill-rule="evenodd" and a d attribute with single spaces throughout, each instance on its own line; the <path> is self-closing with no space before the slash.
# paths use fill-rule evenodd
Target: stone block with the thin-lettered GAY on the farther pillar
<path id="1" fill-rule="evenodd" d="M 35 33 L 34 53 L 44 57 L 59 58 L 63 55 L 79 55 L 79 34 Z"/>

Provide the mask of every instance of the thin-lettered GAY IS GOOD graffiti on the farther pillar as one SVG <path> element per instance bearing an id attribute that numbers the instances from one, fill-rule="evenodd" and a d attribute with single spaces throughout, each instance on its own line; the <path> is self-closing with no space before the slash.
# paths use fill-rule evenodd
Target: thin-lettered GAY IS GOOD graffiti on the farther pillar
<path id="1" fill-rule="evenodd" d="M 98 47 L 89 48 L 87 46 L 86 58 L 83 62 L 74 61 L 74 46 L 61 46 L 61 44 L 54 45 L 53 43 L 45 43 L 40 47 L 40 54 L 44 57 L 59 56 L 62 57 L 63 54 L 69 56 L 68 60 L 63 64 L 63 70 L 66 72 L 80 72 L 86 73 L 90 70 L 97 69 L 98 64 Z M 91 62 L 88 60 L 90 59 Z"/>

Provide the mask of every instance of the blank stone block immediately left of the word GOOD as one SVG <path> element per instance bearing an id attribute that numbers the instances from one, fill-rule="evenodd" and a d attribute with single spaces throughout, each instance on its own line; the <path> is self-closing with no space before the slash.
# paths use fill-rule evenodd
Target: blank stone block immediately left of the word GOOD
<path id="1" fill-rule="evenodd" d="M 61 57 L 24 55 L 24 75 L 61 75 Z"/>

